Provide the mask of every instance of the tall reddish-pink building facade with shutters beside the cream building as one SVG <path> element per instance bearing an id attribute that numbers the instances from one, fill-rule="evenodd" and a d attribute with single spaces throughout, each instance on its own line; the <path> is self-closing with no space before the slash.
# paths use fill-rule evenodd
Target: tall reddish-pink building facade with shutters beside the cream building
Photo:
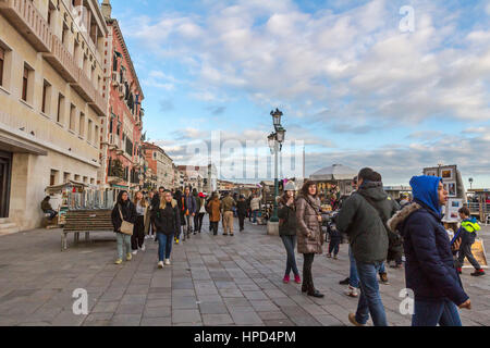
<path id="1" fill-rule="evenodd" d="M 109 29 L 105 62 L 110 86 L 99 181 L 105 188 L 138 190 L 144 186 L 145 97 L 118 20 L 111 17 L 110 1 L 105 0 L 101 8 Z"/>

